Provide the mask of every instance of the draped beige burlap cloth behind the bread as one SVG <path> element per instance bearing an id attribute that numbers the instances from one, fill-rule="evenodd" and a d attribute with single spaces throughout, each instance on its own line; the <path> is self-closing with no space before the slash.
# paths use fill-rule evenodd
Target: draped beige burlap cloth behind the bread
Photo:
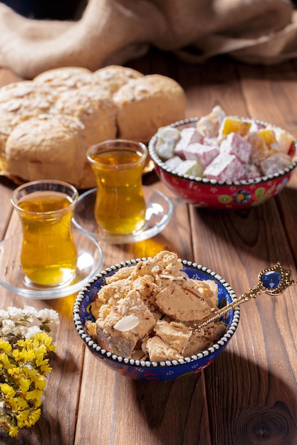
<path id="1" fill-rule="evenodd" d="M 278 63 L 297 55 L 297 11 L 290 0 L 89 0 L 78 21 L 36 21 L 0 4 L 0 66 L 21 77 L 123 65 L 150 45 L 192 63 Z"/>

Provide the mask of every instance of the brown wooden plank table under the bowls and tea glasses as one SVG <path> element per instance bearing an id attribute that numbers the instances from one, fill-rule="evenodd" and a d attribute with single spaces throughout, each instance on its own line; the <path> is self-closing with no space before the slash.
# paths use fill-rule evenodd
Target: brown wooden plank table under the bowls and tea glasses
<path id="1" fill-rule="evenodd" d="M 179 81 L 187 117 L 220 104 L 228 114 L 262 119 L 297 136 L 297 62 L 265 67 L 216 58 L 187 65 L 152 51 L 129 64 L 142 73 Z M 0 83 L 16 80 L 0 70 Z M 155 173 L 145 183 L 174 204 L 165 230 L 131 245 L 102 243 L 103 268 L 163 249 L 204 264 L 236 294 L 280 261 L 297 279 L 297 172 L 276 198 L 241 211 L 187 205 Z M 15 184 L 0 178 L 1 239 L 20 230 L 10 197 Z M 1 288 L 0 309 L 29 304 L 60 314 L 58 348 L 38 423 L 1 444 L 38 445 L 296 445 L 297 288 L 259 296 L 241 306 L 236 335 L 206 370 L 176 382 L 135 382 L 106 368 L 85 350 L 72 320 L 75 295 L 36 301 Z"/>

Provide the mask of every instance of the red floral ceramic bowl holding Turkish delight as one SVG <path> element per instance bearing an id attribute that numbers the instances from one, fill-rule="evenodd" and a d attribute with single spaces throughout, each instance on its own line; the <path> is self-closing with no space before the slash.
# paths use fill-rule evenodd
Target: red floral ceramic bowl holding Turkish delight
<path id="1" fill-rule="evenodd" d="M 244 118 L 240 118 L 246 120 Z M 194 127 L 199 120 L 198 117 L 174 122 L 170 127 L 183 129 Z M 249 119 L 250 121 L 251 119 Z M 266 127 L 266 122 L 254 120 L 256 124 Z M 273 127 L 270 125 L 270 127 Z M 274 126 L 274 128 L 277 128 Z M 214 209 L 247 208 L 251 205 L 259 205 L 279 193 L 288 183 L 293 169 L 297 165 L 297 141 L 291 145 L 291 164 L 283 170 L 271 176 L 260 176 L 259 178 L 234 181 L 233 183 L 221 183 L 212 179 L 194 177 L 189 175 L 179 175 L 174 170 L 168 168 L 157 156 L 155 146 L 157 134 L 152 136 L 149 143 L 149 153 L 155 163 L 155 170 L 161 181 L 170 190 L 189 203 L 197 207 Z"/>

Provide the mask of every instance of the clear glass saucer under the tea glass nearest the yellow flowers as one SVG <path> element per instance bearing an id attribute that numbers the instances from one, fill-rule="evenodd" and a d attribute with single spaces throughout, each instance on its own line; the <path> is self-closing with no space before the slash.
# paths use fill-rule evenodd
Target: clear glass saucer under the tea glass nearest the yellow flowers
<path id="1" fill-rule="evenodd" d="M 48 300 L 79 292 L 90 278 L 98 274 L 103 263 L 103 252 L 93 237 L 73 231 L 78 250 L 76 275 L 71 282 L 60 286 L 33 286 L 26 284 L 21 269 L 21 244 L 23 235 L 18 233 L 0 242 L 0 285 L 16 295 L 26 298 Z"/>

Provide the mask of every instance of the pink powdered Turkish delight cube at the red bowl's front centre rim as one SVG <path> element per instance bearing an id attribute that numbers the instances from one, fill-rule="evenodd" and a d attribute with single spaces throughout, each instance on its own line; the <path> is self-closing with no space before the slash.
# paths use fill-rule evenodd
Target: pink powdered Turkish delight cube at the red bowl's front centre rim
<path id="1" fill-rule="evenodd" d="M 222 153 L 205 168 L 204 177 L 221 182 L 233 182 L 243 178 L 244 166 L 234 154 Z"/>

